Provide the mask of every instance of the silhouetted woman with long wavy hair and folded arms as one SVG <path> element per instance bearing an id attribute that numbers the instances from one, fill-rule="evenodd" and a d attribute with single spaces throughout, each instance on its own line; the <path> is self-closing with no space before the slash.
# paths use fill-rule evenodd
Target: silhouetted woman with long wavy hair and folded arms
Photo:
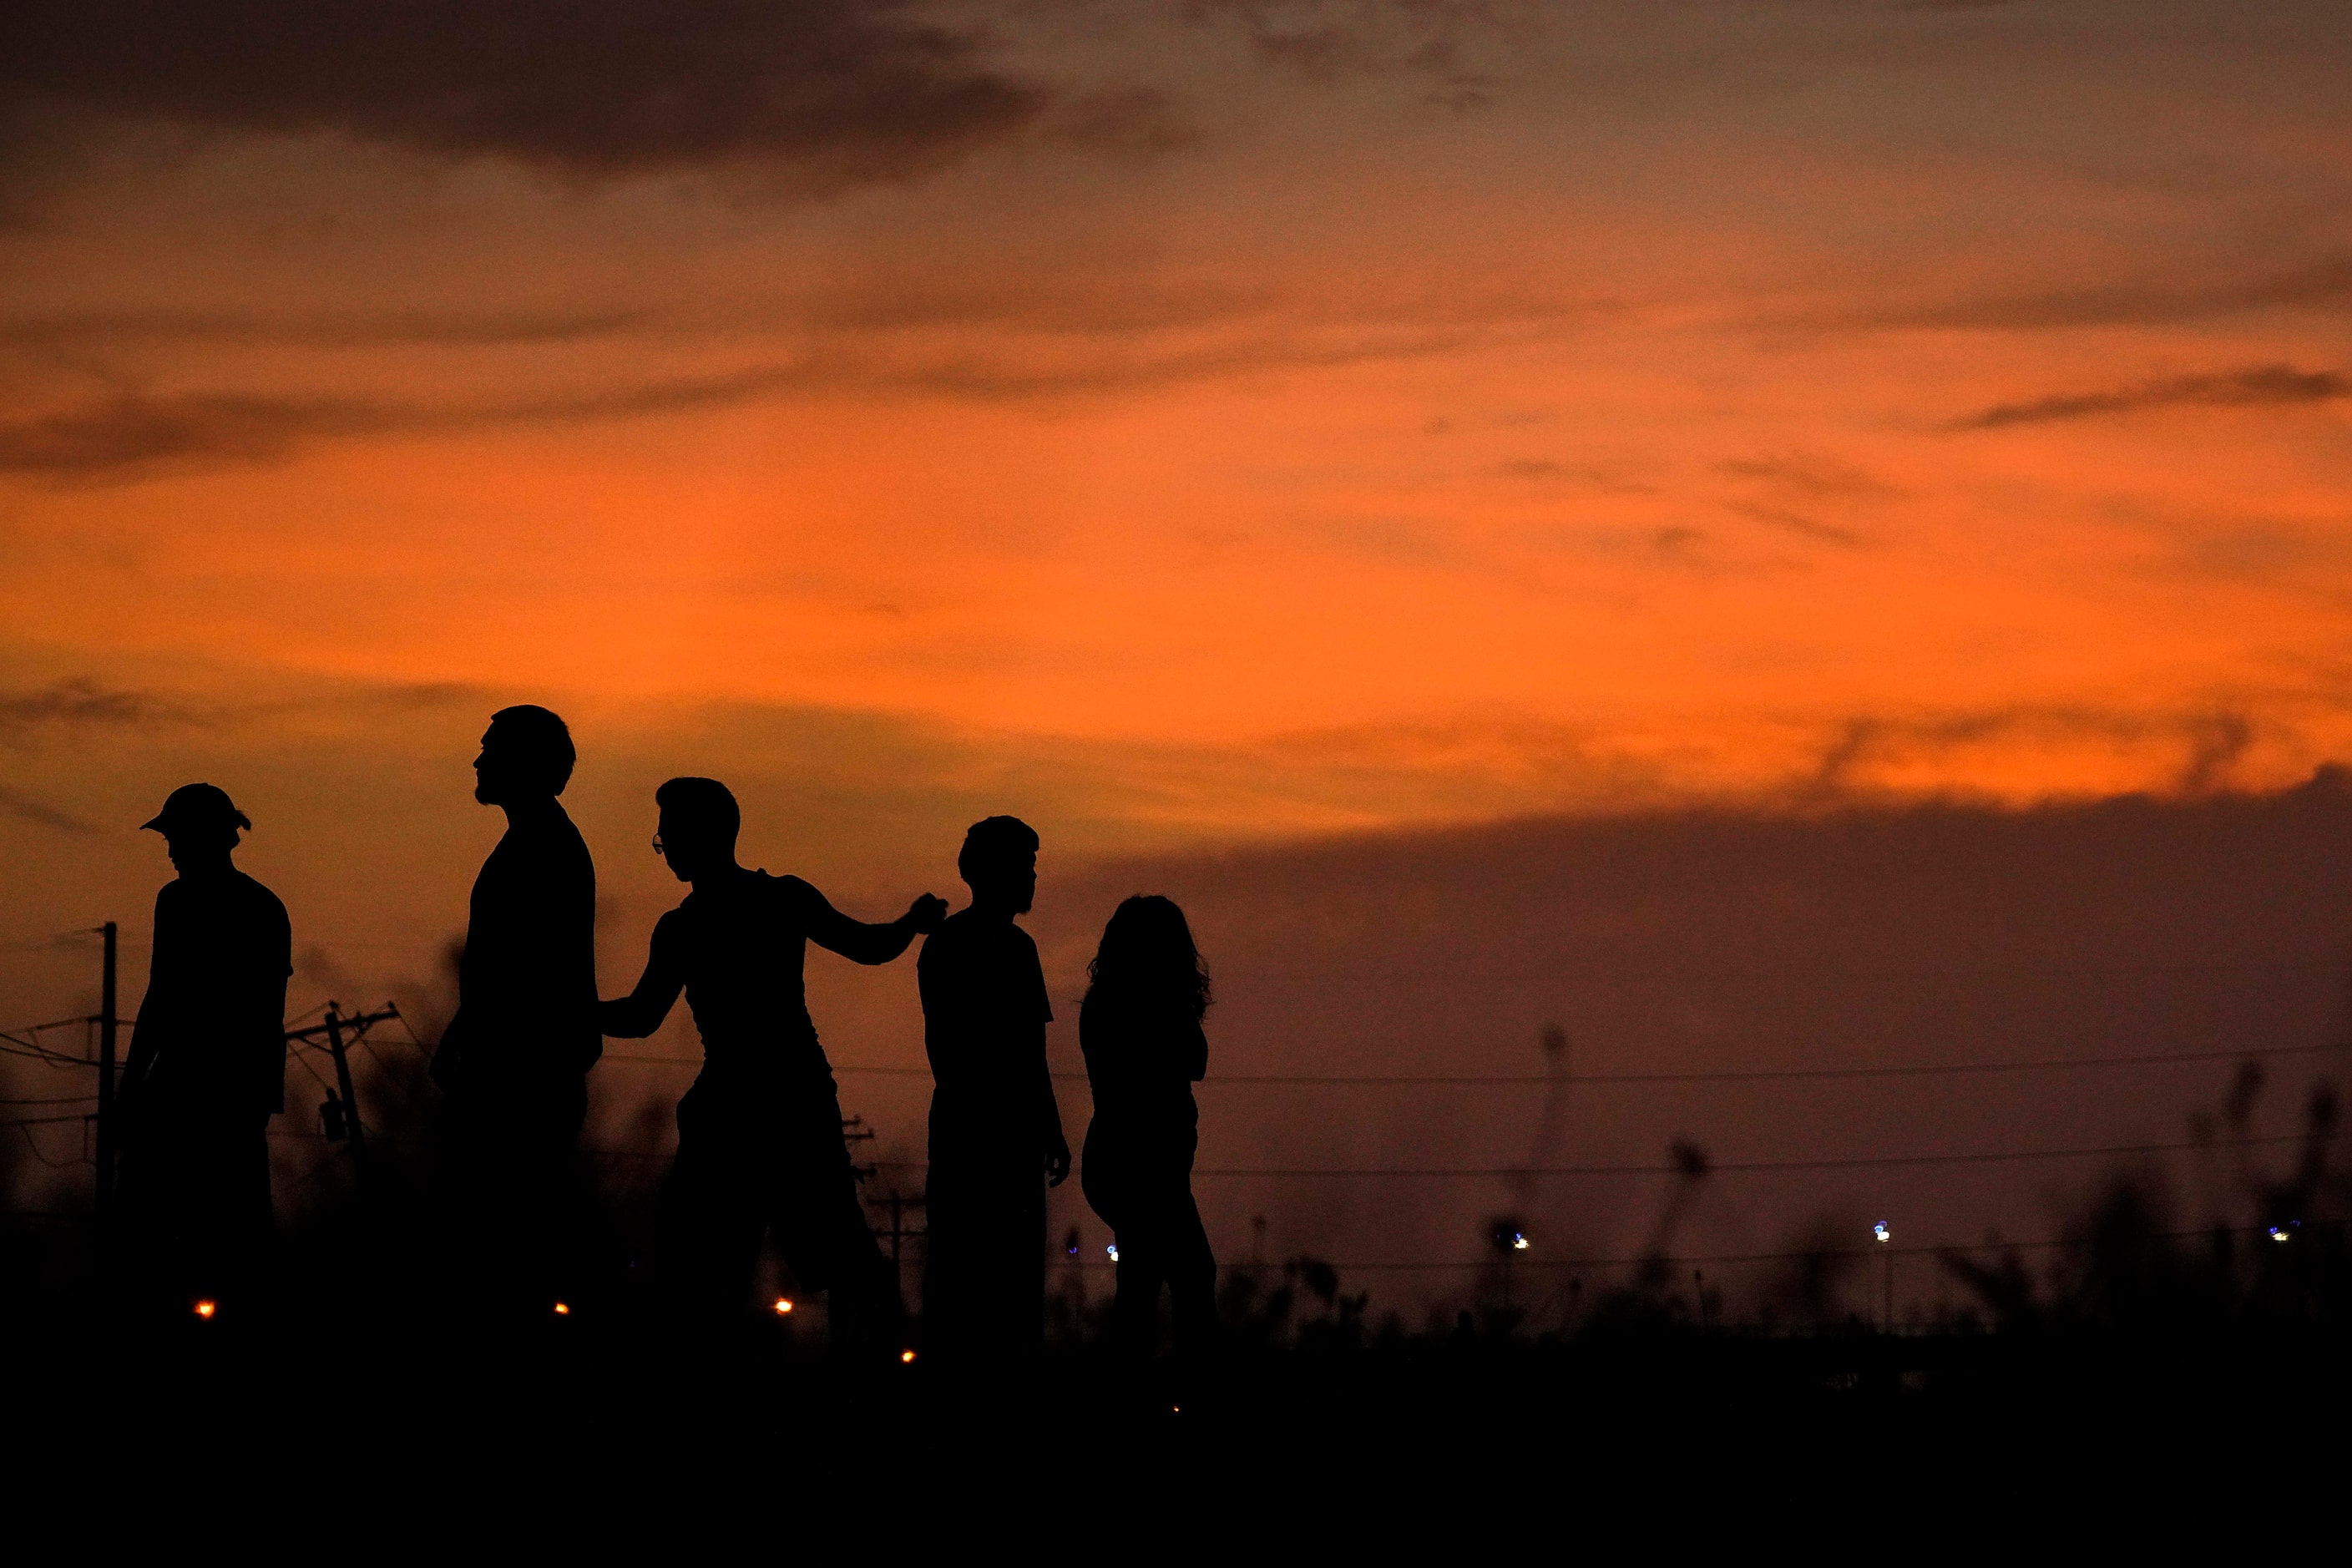
<path id="1" fill-rule="evenodd" d="M 1120 1248 L 1112 1335 L 1127 1354 L 1148 1356 L 1167 1284 L 1176 1349 L 1192 1354 L 1216 1338 L 1216 1258 L 1192 1204 L 1192 1084 L 1209 1072 L 1200 1027 L 1209 976 L 1183 910 L 1167 898 L 1122 903 L 1087 973 L 1077 1044 L 1094 1121 L 1080 1185 Z"/>

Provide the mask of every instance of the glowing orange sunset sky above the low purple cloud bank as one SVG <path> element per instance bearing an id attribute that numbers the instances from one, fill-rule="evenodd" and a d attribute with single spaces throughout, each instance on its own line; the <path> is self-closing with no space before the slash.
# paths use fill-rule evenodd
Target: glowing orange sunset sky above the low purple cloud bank
<path id="1" fill-rule="evenodd" d="M 296 1004 L 426 1009 L 510 701 L 581 741 L 607 992 L 689 771 L 875 917 L 1021 811 L 1058 999 L 1136 856 L 2288 790 L 2352 759 L 2347 80 L 2340 0 L 12 5 L 5 1020 L 99 919 L 136 994 L 188 778 Z M 1202 919 L 1221 1051 L 1305 1039 L 1240 954 L 1296 926 Z M 1470 1027 L 1406 969 L 1381 1060 Z M 811 971 L 837 1056 L 920 1060 L 903 980 Z M 1816 1013 L 1625 1041 L 1919 1039 Z"/>

